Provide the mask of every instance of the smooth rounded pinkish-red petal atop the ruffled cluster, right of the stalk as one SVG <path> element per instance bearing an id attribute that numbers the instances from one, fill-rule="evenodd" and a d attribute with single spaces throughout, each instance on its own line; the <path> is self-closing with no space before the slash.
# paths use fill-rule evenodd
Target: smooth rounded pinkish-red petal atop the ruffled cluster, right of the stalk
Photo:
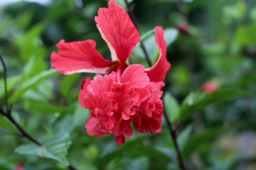
<path id="1" fill-rule="evenodd" d="M 120 82 L 127 83 L 126 88 L 144 88 L 149 84 L 149 78 L 144 73 L 145 67 L 141 64 L 132 64 L 123 72 Z"/>

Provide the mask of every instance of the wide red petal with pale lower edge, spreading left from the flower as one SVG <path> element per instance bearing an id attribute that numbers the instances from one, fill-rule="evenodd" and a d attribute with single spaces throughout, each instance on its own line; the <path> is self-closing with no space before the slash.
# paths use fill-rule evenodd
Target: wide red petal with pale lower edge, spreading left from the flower
<path id="1" fill-rule="evenodd" d="M 56 46 L 59 48 L 58 54 L 51 53 L 51 64 L 54 70 L 62 74 L 73 73 L 99 73 L 106 74 L 110 71 L 114 62 L 105 60 L 98 51 L 95 50 L 94 40 L 76 41 L 65 43 L 61 40 Z"/>

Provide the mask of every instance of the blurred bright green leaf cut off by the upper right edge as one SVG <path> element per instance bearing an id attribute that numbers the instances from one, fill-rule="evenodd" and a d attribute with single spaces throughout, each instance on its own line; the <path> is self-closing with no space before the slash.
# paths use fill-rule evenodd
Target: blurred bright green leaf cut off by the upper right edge
<path id="1" fill-rule="evenodd" d="M 236 41 L 244 46 L 254 46 L 256 42 L 256 26 L 239 26 L 235 33 Z"/>

